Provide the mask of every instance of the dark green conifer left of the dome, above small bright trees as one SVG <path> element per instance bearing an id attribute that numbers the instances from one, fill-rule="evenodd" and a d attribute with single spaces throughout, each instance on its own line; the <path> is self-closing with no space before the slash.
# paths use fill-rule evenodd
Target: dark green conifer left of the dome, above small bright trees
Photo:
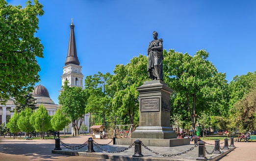
<path id="1" fill-rule="evenodd" d="M 18 113 L 21 112 L 21 110 L 25 110 L 26 107 L 31 108 L 32 110 L 35 110 L 36 107 L 36 99 L 32 97 L 31 93 L 27 93 L 24 95 L 25 102 L 21 101 L 14 101 L 15 109 L 10 110 L 10 112 L 14 112 L 17 110 Z"/>

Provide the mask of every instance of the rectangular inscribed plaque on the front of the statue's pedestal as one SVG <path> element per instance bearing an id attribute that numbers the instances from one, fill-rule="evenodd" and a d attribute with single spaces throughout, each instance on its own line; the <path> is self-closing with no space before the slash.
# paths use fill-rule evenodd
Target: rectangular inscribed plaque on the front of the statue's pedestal
<path id="1" fill-rule="evenodd" d="M 140 111 L 159 111 L 160 110 L 160 98 L 149 98 L 149 99 L 140 99 Z"/>

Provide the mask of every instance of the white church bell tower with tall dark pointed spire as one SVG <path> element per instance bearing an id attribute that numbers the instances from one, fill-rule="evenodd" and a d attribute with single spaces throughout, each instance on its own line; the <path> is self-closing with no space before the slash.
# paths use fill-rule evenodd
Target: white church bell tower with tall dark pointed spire
<path id="1" fill-rule="evenodd" d="M 65 61 L 65 66 L 63 67 L 63 74 L 61 76 L 62 83 L 64 85 L 64 81 L 69 80 L 69 85 L 78 86 L 83 88 L 83 75 L 81 72 L 82 66 L 80 66 L 80 62 L 77 57 L 77 47 L 76 47 L 76 39 L 75 39 L 75 25 L 73 24 L 73 19 L 71 19 L 70 25 L 70 37 L 69 37 L 69 47 L 68 47 L 68 55 Z"/>

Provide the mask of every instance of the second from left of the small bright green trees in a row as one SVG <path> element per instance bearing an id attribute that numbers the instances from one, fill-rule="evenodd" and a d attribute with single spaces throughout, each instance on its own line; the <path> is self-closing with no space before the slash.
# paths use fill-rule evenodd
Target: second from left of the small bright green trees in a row
<path id="1" fill-rule="evenodd" d="M 19 119 L 17 121 L 17 125 L 21 131 L 25 131 L 27 136 L 29 132 L 34 131 L 34 127 L 30 123 L 30 117 L 32 115 L 32 109 L 25 107 L 19 115 Z"/>

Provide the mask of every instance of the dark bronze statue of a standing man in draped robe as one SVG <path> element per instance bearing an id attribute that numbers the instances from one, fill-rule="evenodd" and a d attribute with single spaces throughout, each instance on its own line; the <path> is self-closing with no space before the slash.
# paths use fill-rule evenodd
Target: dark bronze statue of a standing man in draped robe
<path id="1" fill-rule="evenodd" d="M 163 80 L 163 40 L 157 39 L 157 36 L 154 31 L 154 40 L 148 47 L 148 72 L 151 80 Z"/>

